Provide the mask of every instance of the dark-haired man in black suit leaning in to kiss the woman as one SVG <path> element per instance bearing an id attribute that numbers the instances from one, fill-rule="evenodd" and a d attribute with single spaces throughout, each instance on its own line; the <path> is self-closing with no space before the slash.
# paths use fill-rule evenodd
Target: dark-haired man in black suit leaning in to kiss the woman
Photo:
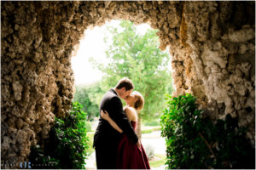
<path id="1" fill-rule="evenodd" d="M 119 98 L 127 98 L 134 85 L 128 78 L 119 80 L 115 88 L 111 88 L 102 98 L 100 111 L 108 111 L 109 116 L 114 122 L 123 130 L 129 139 L 138 147 L 141 147 L 136 133 L 131 127 L 123 110 L 122 102 Z M 117 162 L 117 148 L 121 133 L 116 131 L 111 125 L 102 117 L 100 117 L 96 133 L 94 135 L 93 147 L 96 150 L 96 165 L 98 169 L 116 169 Z"/>

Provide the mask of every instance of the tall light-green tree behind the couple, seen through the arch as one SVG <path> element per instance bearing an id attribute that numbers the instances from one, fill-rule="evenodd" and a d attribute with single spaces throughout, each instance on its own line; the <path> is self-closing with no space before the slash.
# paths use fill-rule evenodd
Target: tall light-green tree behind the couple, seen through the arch
<path id="1" fill-rule="evenodd" d="M 157 30 L 148 30 L 144 35 L 137 33 L 134 24 L 122 20 L 117 28 L 108 27 L 112 37 L 104 37 L 109 48 L 106 51 L 110 60 L 108 65 L 90 59 L 103 72 L 102 84 L 105 90 L 113 88 L 122 77 L 128 77 L 135 84 L 135 90 L 143 94 L 145 105 L 139 114 L 140 120 L 150 120 L 159 117 L 165 104 L 165 94 L 172 89 L 171 72 L 168 70 L 169 56 L 160 50 Z M 138 126 L 137 134 L 141 130 Z"/>

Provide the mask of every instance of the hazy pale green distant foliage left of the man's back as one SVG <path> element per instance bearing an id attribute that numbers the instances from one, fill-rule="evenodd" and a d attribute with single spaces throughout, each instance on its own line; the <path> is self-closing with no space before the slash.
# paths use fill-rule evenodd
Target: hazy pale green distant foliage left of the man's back
<path id="1" fill-rule="evenodd" d="M 99 116 L 99 103 L 102 94 L 103 91 L 99 83 L 91 86 L 76 86 L 73 101 L 84 105 L 82 111 L 87 113 L 87 121 L 92 121 L 94 117 Z"/>

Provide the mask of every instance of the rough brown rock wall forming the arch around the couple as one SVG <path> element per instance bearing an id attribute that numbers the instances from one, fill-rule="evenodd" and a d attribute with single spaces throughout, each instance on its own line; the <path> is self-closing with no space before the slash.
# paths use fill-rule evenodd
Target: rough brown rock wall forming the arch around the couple
<path id="1" fill-rule="evenodd" d="M 31 145 L 44 146 L 55 116 L 70 109 L 73 48 L 106 20 L 159 29 L 173 95 L 196 95 L 213 119 L 239 116 L 254 142 L 255 2 L 2 2 L 1 16 L 2 168 L 28 161 Z"/>

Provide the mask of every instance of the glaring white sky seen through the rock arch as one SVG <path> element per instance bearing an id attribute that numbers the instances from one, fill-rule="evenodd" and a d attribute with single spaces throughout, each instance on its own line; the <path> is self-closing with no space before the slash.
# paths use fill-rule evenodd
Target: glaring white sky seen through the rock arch
<path id="1" fill-rule="evenodd" d="M 94 27 L 92 30 L 87 29 L 84 37 L 80 40 L 77 54 L 72 58 L 72 68 L 75 75 L 75 84 L 88 84 L 102 79 L 102 72 L 92 68 L 89 62 L 90 57 L 96 61 L 108 63 L 105 50 L 108 44 L 103 41 L 104 33 L 107 31 L 106 26 L 119 26 L 119 20 L 106 22 L 102 27 Z M 148 24 L 137 26 L 138 33 L 144 34 L 151 27 Z"/>

